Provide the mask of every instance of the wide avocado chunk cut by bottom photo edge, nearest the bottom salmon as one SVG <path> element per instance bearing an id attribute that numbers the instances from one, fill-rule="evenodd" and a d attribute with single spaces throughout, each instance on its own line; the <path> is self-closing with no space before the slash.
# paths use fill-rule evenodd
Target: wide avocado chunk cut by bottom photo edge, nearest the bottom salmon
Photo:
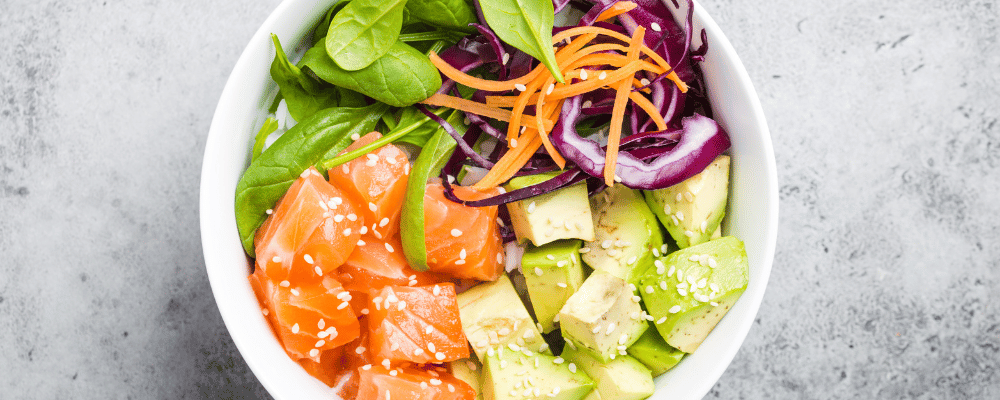
<path id="1" fill-rule="evenodd" d="M 483 362 L 482 388 L 485 400 L 580 400 L 593 390 L 594 381 L 550 355 L 498 350 Z"/>

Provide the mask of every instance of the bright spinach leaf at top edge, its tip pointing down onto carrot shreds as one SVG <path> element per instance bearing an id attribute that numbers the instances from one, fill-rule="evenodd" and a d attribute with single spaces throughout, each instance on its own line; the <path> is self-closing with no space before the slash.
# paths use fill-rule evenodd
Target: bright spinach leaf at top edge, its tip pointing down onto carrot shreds
<path id="1" fill-rule="evenodd" d="M 563 82 L 552 49 L 552 0 L 489 0 L 479 5 L 486 23 L 501 40 L 539 59 L 557 81 Z"/>

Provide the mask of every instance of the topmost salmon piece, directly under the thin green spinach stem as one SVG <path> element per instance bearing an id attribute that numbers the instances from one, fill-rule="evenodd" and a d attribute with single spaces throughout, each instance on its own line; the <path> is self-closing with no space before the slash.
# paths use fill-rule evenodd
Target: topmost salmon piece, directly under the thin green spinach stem
<path id="1" fill-rule="evenodd" d="M 360 148 L 382 137 L 378 132 L 363 136 L 345 151 Z M 330 182 L 358 199 L 368 229 L 377 238 L 390 238 L 399 231 L 399 214 L 406 195 L 410 162 L 406 153 L 387 144 L 329 171 Z"/>

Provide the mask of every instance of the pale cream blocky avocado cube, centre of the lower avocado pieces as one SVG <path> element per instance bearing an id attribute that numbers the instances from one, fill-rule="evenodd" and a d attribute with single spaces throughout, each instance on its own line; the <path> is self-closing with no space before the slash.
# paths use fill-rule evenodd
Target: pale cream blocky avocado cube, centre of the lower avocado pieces
<path id="1" fill-rule="evenodd" d="M 633 296 L 623 279 L 594 271 L 559 311 L 563 337 L 602 361 L 613 360 L 618 346 L 632 344 L 648 327 Z"/>

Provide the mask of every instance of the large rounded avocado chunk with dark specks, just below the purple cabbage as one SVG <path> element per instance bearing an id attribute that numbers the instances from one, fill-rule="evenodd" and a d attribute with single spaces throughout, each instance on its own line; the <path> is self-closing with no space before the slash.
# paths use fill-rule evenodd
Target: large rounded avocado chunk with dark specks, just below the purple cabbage
<path id="1" fill-rule="evenodd" d="M 615 185 L 590 199 L 594 241 L 587 242 L 583 262 L 634 282 L 660 255 L 663 233 L 638 190 Z"/>

